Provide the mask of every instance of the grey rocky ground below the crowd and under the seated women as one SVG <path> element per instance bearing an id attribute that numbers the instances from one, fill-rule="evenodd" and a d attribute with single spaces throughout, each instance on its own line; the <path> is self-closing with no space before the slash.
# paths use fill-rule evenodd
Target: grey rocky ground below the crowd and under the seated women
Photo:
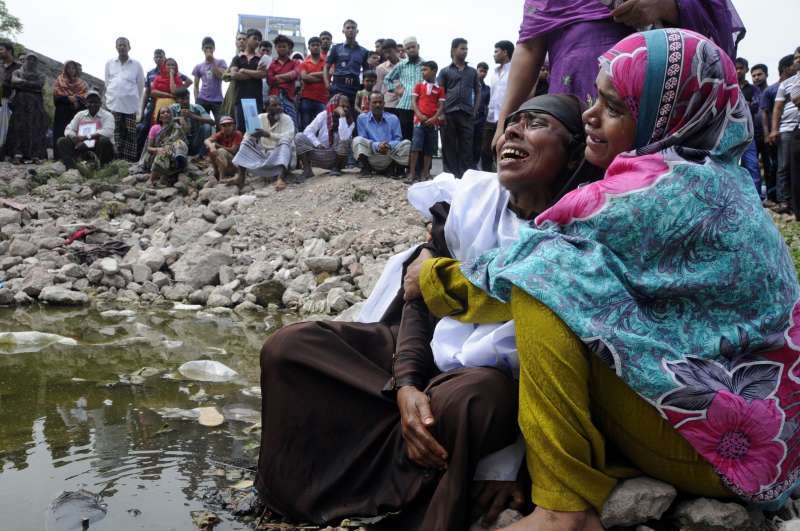
<path id="1" fill-rule="evenodd" d="M 227 307 L 259 319 L 280 311 L 346 318 L 386 259 L 425 236 L 407 185 L 381 176 L 318 175 L 276 192 L 264 182 L 219 185 L 196 166 L 172 187 L 152 187 L 124 163 L 84 173 L 0 163 L 0 305 L 106 299 Z M 774 219 L 800 261 L 798 224 Z M 501 525 L 518 517 L 506 511 Z M 763 513 L 636 478 L 618 486 L 602 517 L 608 528 L 636 531 L 800 531 L 800 500 Z"/>

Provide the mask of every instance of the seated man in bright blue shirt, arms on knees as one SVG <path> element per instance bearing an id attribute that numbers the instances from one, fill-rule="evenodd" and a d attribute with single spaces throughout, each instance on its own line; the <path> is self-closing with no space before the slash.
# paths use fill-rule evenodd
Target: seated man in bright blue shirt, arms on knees
<path id="1" fill-rule="evenodd" d="M 353 156 L 361 164 L 361 175 L 374 170 L 401 177 L 408 166 L 411 141 L 403 140 L 400 120 L 383 112 L 383 94 L 373 92 L 369 99 L 370 112 L 358 117 L 358 134 L 353 139 Z"/>

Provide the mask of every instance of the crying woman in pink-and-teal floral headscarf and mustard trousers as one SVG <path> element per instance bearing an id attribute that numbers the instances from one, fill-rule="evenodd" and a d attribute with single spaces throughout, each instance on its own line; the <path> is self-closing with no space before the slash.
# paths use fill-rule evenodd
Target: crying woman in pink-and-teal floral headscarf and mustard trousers
<path id="1" fill-rule="evenodd" d="M 601 529 L 636 469 L 779 506 L 800 475 L 800 288 L 738 165 L 753 126 L 733 63 L 670 29 L 623 39 L 600 65 L 584 121 L 605 177 L 510 247 L 421 265 L 435 314 L 515 320 L 537 509 L 513 529 Z M 610 466 L 607 443 L 635 469 Z"/>

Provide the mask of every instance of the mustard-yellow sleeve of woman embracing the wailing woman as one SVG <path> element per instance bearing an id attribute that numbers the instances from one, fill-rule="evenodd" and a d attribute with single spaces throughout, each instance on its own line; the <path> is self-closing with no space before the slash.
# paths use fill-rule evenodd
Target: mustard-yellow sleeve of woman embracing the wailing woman
<path id="1" fill-rule="evenodd" d="M 452 258 L 433 258 L 422 264 L 419 285 L 425 305 L 437 317 L 464 323 L 510 321 L 511 305 L 500 302 L 474 286 Z"/>

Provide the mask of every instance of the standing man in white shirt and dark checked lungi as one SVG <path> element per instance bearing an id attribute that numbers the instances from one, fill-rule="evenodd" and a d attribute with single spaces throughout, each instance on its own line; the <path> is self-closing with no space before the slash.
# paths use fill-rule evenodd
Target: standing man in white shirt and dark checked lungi
<path id="1" fill-rule="evenodd" d="M 131 44 L 117 38 L 117 57 L 106 63 L 106 109 L 114 115 L 114 143 L 117 156 L 136 162 L 136 113 L 144 92 L 144 70 L 128 57 Z"/>

